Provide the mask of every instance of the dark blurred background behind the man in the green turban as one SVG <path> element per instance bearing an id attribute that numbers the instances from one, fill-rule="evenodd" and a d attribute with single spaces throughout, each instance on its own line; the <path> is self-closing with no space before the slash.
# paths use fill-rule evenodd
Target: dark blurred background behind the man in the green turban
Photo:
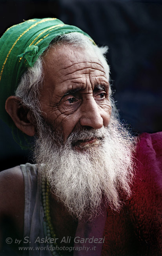
<path id="1" fill-rule="evenodd" d="M 0 35 L 33 18 L 56 17 L 108 45 L 120 119 L 133 134 L 162 130 L 162 1 L 0 0 Z M 0 121 L 0 169 L 31 161 Z"/>

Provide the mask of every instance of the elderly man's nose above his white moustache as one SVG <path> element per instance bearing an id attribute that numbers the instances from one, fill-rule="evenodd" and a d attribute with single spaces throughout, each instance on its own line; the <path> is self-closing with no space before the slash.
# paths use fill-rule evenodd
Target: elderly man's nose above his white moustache
<path id="1" fill-rule="evenodd" d="M 100 115 L 100 107 L 97 105 L 93 97 L 85 100 L 81 106 L 82 117 L 80 125 L 90 126 L 94 129 L 100 129 L 103 126 L 103 119 Z"/>

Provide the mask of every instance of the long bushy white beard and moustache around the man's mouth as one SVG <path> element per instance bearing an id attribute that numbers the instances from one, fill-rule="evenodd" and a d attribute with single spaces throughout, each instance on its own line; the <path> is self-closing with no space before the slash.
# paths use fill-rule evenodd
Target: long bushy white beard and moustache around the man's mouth
<path id="1" fill-rule="evenodd" d="M 135 139 L 116 120 L 99 130 L 71 133 L 66 143 L 62 132 L 44 121 L 38 131 L 35 160 L 43 164 L 40 173 L 48 181 L 58 202 L 77 219 L 93 219 L 100 214 L 101 202 L 119 210 L 121 196 L 131 195 L 132 153 Z M 82 151 L 72 146 L 76 141 L 98 137 Z"/>

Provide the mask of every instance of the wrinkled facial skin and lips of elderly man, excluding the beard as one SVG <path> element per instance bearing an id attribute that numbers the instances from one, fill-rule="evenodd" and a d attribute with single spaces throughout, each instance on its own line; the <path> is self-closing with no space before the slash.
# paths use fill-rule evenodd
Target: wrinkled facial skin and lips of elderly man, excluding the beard
<path id="1" fill-rule="evenodd" d="M 48 124 L 62 128 L 64 141 L 75 130 L 109 124 L 109 82 L 95 52 L 56 46 L 44 57 L 43 69 L 42 115 Z M 79 141 L 76 147 L 95 140 Z"/>

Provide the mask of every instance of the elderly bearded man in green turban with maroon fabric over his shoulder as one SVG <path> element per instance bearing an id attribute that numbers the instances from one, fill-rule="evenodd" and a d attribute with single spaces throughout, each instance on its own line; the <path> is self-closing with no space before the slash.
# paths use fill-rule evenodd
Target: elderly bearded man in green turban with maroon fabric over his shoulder
<path id="1" fill-rule="evenodd" d="M 162 134 L 135 138 L 118 121 L 107 48 L 53 18 L 0 40 L 1 117 L 17 140 L 35 136 L 36 163 L 0 173 L 4 243 L 18 255 L 161 255 Z"/>

